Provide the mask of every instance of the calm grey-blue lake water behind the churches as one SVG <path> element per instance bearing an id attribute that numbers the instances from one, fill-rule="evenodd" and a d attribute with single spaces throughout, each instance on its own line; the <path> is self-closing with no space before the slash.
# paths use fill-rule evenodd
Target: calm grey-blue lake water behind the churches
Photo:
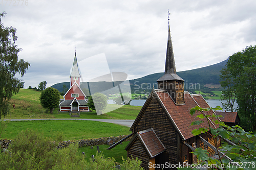
<path id="1" fill-rule="evenodd" d="M 220 106 L 222 107 L 221 102 L 225 103 L 226 101 L 221 101 L 221 100 L 205 100 L 210 107 L 216 107 Z M 146 100 L 132 100 L 131 105 L 132 106 L 143 106 Z M 108 100 L 108 104 L 114 104 L 113 100 Z M 234 104 L 234 108 L 238 106 L 237 103 Z M 223 110 L 224 111 L 224 110 Z M 235 109 L 234 109 L 235 111 Z"/>

